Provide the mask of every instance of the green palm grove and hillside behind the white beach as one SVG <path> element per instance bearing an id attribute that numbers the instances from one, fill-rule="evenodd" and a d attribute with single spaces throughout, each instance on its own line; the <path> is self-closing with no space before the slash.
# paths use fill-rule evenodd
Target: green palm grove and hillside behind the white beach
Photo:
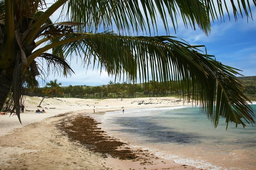
<path id="1" fill-rule="evenodd" d="M 245 88 L 244 95 L 250 101 L 256 101 L 256 76 L 238 77 L 238 79 L 241 80 L 241 84 Z M 55 84 L 57 85 L 56 81 L 55 79 Z M 61 90 L 58 93 L 52 94 L 51 97 L 106 99 L 174 96 L 177 98 L 186 98 L 186 92 L 182 92 L 181 89 L 172 88 L 172 82 L 169 82 L 168 86 L 169 88 L 167 90 L 163 84 L 153 81 L 149 81 L 146 84 L 131 84 L 126 82 L 120 84 L 109 81 L 108 84 L 102 86 L 59 86 Z M 25 87 L 25 93 L 30 96 L 48 96 L 47 93 L 50 89 L 55 89 L 55 85 L 38 88 L 33 92 Z"/>

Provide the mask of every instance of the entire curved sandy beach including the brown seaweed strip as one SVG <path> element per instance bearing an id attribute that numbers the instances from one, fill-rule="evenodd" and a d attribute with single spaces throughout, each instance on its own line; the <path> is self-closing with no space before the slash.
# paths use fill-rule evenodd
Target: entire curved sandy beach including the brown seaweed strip
<path id="1" fill-rule="evenodd" d="M 0 170 L 199 170 L 110 137 L 95 120 L 114 110 L 192 104 L 169 97 L 45 98 L 40 108 L 41 100 L 26 96 L 22 124 L 17 115 L 0 115 Z M 46 112 L 36 113 L 36 109 Z"/>

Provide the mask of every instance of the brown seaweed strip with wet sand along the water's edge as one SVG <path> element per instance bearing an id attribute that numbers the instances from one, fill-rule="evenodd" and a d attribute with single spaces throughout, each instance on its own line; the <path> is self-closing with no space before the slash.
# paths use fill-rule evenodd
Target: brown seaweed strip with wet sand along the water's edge
<path id="1" fill-rule="evenodd" d="M 73 120 L 71 123 L 70 121 L 63 123 L 61 129 L 67 133 L 70 141 L 79 141 L 90 151 L 100 154 L 103 159 L 99 163 L 107 170 L 203 170 L 186 164 L 177 164 L 173 160 L 159 158 L 148 150 L 134 147 L 127 141 L 110 136 L 108 132 L 104 131 L 104 128 L 97 126 L 101 123 L 95 121 L 90 114 L 76 115 L 71 120 Z"/>

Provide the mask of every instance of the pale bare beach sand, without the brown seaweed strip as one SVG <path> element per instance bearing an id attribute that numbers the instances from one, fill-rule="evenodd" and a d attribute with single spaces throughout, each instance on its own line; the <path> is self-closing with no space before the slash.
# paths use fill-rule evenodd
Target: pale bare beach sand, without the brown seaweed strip
<path id="1" fill-rule="evenodd" d="M 41 100 L 40 97 L 26 97 L 25 111 L 20 115 L 22 125 L 17 115 L 0 115 L 0 169 L 197 169 L 176 164 L 172 160 L 154 159 L 153 164 L 142 165 L 141 162 L 136 161 L 102 158 L 81 147 L 79 143 L 74 144 L 68 141 L 67 136 L 61 134 L 55 126 L 61 118 L 52 117 L 61 113 L 69 113 L 70 116 L 81 112 L 95 115 L 119 109 L 188 105 L 177 98 L 124 98 L 122 100 L 45 98 L 41 104 L 42 108 L 39 108 L 37 106 Z M 46 112 L 36 113 L 36 109 L 44 109 Z M 93 109 L 96 113 L 93 113 Z"/>

